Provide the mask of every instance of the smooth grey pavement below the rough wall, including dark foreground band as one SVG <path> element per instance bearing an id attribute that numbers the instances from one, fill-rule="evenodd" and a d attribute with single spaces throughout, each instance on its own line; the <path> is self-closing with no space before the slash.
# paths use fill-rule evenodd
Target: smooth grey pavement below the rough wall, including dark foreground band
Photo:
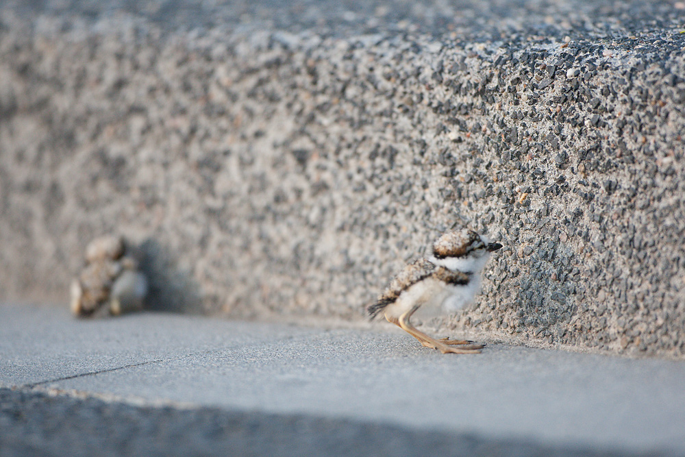
<path id="1" fill-rule="evenodd" d="M 105 455 L 685 454 L 685 362 L 442 355 L 396 332 L 173 314 L 3 305 L 0 317 L 1 456 L 79 454 L 86 436 Z M 164 427 L 192 439 L 177 447 Z"/>

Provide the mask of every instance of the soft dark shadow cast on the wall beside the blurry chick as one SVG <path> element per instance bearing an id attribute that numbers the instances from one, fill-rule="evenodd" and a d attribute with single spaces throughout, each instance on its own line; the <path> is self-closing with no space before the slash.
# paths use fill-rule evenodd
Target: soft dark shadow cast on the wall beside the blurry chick
<path id="1" fill-rule="evenodd" d="M 168 249 L 151 238 L 135 249 L 140 258 L 140 271 L 148 280 L 146 310 L 203 314 L 199 284 L 178 269 Z"/>

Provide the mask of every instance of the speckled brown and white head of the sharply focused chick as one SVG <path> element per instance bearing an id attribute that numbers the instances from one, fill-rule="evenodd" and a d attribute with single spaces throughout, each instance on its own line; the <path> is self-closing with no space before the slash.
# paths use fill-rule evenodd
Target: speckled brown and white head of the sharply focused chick
<path id="1" fill-rule="evenodd" d="M 485 266 L 490 253 L 501 247 L 473 230 L 454 230 L 433 243 L 433 255 L 429 260 L 452 271 L 477 273 Z"/>

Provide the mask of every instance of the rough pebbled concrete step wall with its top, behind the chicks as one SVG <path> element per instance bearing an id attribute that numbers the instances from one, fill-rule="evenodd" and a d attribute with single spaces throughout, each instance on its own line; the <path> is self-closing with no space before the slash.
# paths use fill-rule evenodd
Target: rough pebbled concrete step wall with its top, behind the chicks
<path id="1" fill-rule="evenodd" d="M 0 295 L 120 232 L 151 308 L 360 319 L 463 224 L 440 325 L 684 357 L 683 3 L 468 3 L 2 3 Z"/>

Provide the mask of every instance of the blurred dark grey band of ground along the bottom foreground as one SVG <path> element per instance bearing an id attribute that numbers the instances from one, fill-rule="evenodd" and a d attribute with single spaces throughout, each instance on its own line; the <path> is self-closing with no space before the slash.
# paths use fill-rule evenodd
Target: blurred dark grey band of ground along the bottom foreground
<path id="1" fill-rule="evenodd" d="M 132 406 L 0 388 L 0 457 L 671 456 L 549 446 L 303 415 Z"/>

